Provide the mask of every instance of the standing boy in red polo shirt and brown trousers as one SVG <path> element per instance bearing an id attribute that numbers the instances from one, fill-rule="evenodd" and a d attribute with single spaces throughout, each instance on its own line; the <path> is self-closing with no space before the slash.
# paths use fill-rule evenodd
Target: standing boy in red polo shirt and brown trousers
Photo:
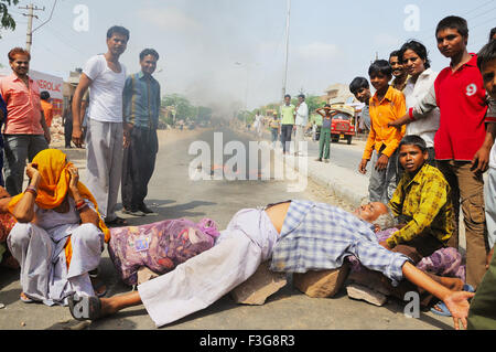
<path id="1" fill-rule="evenodd" d="M 487 170 L 494 138 L 485 129 L 486 92 L 477 67 L 477 55 L 466 50 L 466 21 L 448 17 L 439 22 L 435 36 L 441 54 L 451 58 L 450 66 L 438 75 L 422 102 L 389 126 L 402 126 L 422 118 L 435 107 L 440 108 L 441 124 L 434 138 L 435 160 L 452 189 L 455 228 L 462 205 L 466 236 L 466 281 L 476 288 L 485 273 L 487 255 L 483 172 Z M 455 248 L 459 246 L 457 231 L 453 233 L 449 245 Z"/>

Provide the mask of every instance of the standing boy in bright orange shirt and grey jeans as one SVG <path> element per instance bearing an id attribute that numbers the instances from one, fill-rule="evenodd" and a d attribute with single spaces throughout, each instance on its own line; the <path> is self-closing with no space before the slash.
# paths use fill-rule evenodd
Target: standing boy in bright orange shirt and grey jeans
<path id="1" fill-rule="evenodd" d="M 370 158 L 373 159 L 374 168 L 368 185 L 369 199 L 370 202 L 387 204 L 397 186 L 397 149 L 405 135 L 405 128 L 399 131 L 388 127 L 388 122 L 403 116 L 407 107 L 403 94 L 389 86 L 392 68 L 386 60 L 374 62 L 368 74 L 370 83 L 377 92 L 370 98 L 371 126 L 358 171 L 365 174 L 367 163 Z"/>

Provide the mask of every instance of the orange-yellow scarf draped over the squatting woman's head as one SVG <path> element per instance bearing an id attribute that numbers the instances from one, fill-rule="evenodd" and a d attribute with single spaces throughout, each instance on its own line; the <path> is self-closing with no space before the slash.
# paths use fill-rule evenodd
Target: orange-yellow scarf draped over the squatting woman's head
<path id="1" fill-rule="evenodd" d="M 68 192 L 71 174 L 68 168 L 73 166 L 67 161 L 67 156 L 58 149 L 45 149 L 34 157 L 33 163 L 37 164 L 40 172 L 40 184 L 37 188 L 36 204 L 41 209 L 51 210 L 60 206 Z M 89 200 L 96 212 L 98 213 L 98 205 L 91 192 L 82 182 L 78 182 L 77 189 L 80 196 Z M 19 203 L 24 194 L 15 195 L 9 203 L 9 211 L 12 213 L 15 204 Z M 105 242 L 110 241 L 110 231 L 101 220 L 100 214 L 99 227 L 105 234 Z"/>

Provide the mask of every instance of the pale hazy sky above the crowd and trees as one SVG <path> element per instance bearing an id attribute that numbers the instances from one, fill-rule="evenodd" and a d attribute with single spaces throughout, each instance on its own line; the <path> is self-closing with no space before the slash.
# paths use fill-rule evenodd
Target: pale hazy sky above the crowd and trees
<path id="1" fill-rule="evenodd" d="M 45 7 L 36 11 L 36 28 L 48 19 L 54 0 L 22 0 L 18 7 L 31 2 Z M 78 4 L 88 10 L 87 31 L 75 29 Z M 25 46 L 26 11 L 18 7 L 12 8 L 18 29 L 3 31 L 0 40 L 3 65 L 11 47 Z M 331 84 L 366 76 L 376 53 L 388 58 L 409 39 L 428 47 L 439 72 L 449 61 L 438 52 L 434 29 L 450 14 L 468 21 L 468 50 L 477 52 L 496 25 L 496 1 L 291 0 L 287 90 L 323 95 Z M 285 18 L 287 0 L 58 0 L 53 19 L 34 32 L 31 67 L 66 79 L 107 51 L 106 31 L 119 24 L 131 31 L 121 56 L 129 73 L 139 71 L 140 51 L 154 47 L 164 94 L 251 109 L 281 98 Z"/>

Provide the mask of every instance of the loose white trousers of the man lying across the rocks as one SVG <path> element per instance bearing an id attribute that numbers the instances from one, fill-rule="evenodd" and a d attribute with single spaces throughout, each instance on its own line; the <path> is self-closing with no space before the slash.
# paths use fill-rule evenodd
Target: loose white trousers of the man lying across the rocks
<path id="1" fill-rule="evenodd" d="M 161 327 L 211 306 L 270 258 L 277 238 L 265 211 L 239 211 L 212 249 L 138 286 L 144 308 Z"/>

